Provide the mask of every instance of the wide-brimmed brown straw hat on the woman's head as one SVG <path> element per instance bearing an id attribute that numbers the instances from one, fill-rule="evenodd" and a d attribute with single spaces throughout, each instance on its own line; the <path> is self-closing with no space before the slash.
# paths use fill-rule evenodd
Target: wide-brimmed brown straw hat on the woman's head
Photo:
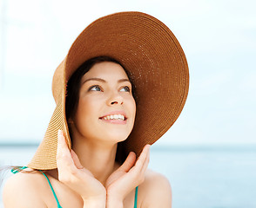
<path id="1" fill-rule="evenodd" d="M 178 40 L 164 23 L 141 12 L 120 12 L 91 23 L 73 42 L 52 81 L 56 108 L 30 168 L 57 168 L 57 130 L 62 129 L 71 148 L 65 118 L 66 82 L 86 60 L 106 55 L 129 72 L 135 86 L 137 113 L 127 151 L 139 154 L 178 119 L 188 93 L 189 73 Z"/>

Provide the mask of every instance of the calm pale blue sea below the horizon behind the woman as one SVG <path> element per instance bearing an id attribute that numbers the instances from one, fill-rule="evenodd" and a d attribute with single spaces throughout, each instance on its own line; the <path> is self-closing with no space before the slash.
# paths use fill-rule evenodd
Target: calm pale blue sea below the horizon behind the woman
<path id="1" fill-rule="evenodd" d="M 0 166 L 24 166 L 36 149 L 0 145 Z M 172 208 L 256 208 L 255 145 L 152 146 L 149 168 L 169 179 Z"/>

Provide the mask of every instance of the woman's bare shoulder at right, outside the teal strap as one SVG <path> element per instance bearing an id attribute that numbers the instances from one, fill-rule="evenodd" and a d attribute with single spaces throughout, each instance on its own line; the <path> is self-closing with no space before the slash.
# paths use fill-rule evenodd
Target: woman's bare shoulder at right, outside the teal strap
<path id="1" fill-rule="evenodd" d="M 172 188 L 169 180 L 161 173 L 146 171 L 145 181 L 139 185 L 140 207 L 172 207 Z"/>

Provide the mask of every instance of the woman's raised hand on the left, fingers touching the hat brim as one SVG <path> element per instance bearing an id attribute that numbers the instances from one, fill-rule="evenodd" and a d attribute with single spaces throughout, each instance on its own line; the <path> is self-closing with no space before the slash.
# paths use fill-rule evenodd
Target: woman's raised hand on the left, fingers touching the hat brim
<path id="1" fill-rule="evenodd" d="M 85 204 L 91 202 L 93 202 L 91 204 L 95 204 L 94 202 L 101 201 L 105 203 L 106 191 L 104 185 L 81 165 L 77 154 L 73 150 L 69 150 L 64 133 L 61 130 L 57 133 L 57 139 L 58 180 L 77 192 L 83 198 Z"/>

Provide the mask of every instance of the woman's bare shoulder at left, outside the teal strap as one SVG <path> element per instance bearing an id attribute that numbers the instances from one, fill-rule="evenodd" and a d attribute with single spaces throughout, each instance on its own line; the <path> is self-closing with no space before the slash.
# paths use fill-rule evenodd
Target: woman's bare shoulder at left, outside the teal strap
<path id="1" fill-rule="evenodd" d="M 46 207 L 40 197 L 43 180 L 40 173 L 19 172 L 12 175 L 3 187 L 4 207 Z"/>

